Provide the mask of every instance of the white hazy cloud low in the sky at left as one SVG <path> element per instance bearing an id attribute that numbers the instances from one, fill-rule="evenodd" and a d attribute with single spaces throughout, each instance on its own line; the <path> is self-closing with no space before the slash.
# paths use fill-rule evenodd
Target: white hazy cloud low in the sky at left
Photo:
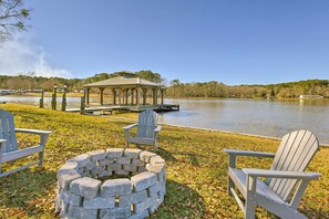
<path id="1" fill-rule="evenodd" d="M 17 75 L 34 72 L 38 76 L 72 77 L 64 69 L 56 69 L 49 64 L 50 54 L 40 46 L 22 36 L 0 44 L 0 74 Z"/>

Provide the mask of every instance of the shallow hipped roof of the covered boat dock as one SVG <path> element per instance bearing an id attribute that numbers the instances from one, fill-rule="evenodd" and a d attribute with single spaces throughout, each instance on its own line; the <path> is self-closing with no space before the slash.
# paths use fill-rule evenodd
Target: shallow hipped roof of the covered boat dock
<path id="1" fill-rule="evenodd" d="M 119 86 L 151 86 L 151 87 L 162 87 L 162 84 L 157 84 L 140 77 L 124 77 L 117 76 L 107 79 L 104 81 L 84 84 L 84 87 L 119 87 Z"/>

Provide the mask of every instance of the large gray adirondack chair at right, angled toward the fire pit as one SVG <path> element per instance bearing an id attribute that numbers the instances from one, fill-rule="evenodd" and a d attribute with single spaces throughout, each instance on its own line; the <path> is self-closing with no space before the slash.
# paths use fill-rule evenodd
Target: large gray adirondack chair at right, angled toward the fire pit
<path id="1" fill-rule="evenodd" d="M 318 149 L 318 139 L 309 131 L 285 135 L 276 154 L 225 149 L 229 154 L 228 194 L 235 197 L 245 218 L 255 218 L 256 205 L 281 218 L 306 218 L 297 211 L 297 207 L 308 182 L 321 177 L 317 173 L 304 171 Z M 238 156 L 271 157 L 274 163 L 269 170 L 240 170 L 236 168 Z M 245 204 L 238 197 L 235 186 L 244 196 Z"/>

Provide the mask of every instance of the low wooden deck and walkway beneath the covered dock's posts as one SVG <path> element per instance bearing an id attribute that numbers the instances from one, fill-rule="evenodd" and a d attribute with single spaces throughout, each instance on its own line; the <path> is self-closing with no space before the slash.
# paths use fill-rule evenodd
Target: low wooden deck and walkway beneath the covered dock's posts
<path id="1" fill-rule="evenodd" d="M 175 104 L 162 104 L 162 105 L 141 105 L 136 107 L 135 105 L 99 105 L 99 106 L 89 106 L 84 108 L 85 114 L 93 114 L 94 112 L 101 112 L 103 114 L 116 111 L 116 112 L 142 112 L 145 109 L 153 109 L 155 112 L 171 112 L 179 111 L 179 105 Z M 66 112 L 70 113 L 80 113 L 81 108 L 68 108 Z"/>

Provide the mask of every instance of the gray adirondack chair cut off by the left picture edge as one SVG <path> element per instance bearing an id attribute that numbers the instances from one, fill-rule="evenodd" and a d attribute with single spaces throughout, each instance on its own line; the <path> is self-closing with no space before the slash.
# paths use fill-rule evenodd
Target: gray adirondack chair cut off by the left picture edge
<path id="1" fill-rule="evenodd" d="M 14 128 L 14 121 L 11 113 L 0 109 L 0 177 L 17 173 L 19 170 L 25 169 L 32 165 L 42 166 L 44 146 L 48 140 L 49 131 L 35 131 L 25 128 Z M 40 143 L 37 146 L 28 147 L 23 149 L 18 148 L 16 133 L 27 133 L 40 135 Z M 31 164 L 24 165 L 22 167 L 12 169 L 10 171 L 2 173 L 2 164 L 6 161 L 12 161 L 22 157 L 27 157 L 39 153 L 39 160 Z"/>

